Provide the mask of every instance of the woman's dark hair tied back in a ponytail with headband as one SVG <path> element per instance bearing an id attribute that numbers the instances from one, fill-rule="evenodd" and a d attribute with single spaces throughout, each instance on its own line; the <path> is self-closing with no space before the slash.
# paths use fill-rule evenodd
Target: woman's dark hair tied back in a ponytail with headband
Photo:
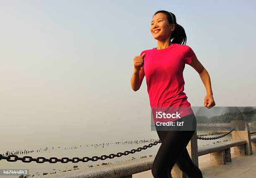
<path id="1" fill-rule="evenodd" d="M 166 10 L 159 10 L 154 15 L 156 15 L 157 13 L 164 13 L 166 15 L 169 23 L 175 24 L 175 29 L 172 32 L 172 35 L 170 38 L 170 40 L 173 39 L 172 43 L 186 44 L 187 36 L 186 36 L 185 30 L 181 25 L 177 24 L 176 16 L 173 13 L 168 12 Z M 153 17 L 154 17 L 154 15 L 153 15 Z"/>

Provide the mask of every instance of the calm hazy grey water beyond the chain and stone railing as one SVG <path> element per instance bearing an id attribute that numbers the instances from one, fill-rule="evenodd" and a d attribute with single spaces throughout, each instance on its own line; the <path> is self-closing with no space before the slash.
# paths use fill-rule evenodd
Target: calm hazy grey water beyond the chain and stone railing
<path id="1" fill-rule="evenodd" d="M 18 134 L 13 134 L 13 129 L 18 130 Z M 17 132 L 17 131 L 16 131 Z M 48 134 L 46 134 L 46 132 Z M 143 133 L 143 134 L 138 134 Z M 197 134 L 203 134 L 208 132 L 198 131 Z M 33 158 L 37 157 L 92 157 L 100 155 L 109 155 L 111 153 L 124 152 L 126 150 L 136 149 L 143 145 L 148 145 L 150 142 L 143 142 L 142 140 L 156 139 L 159 140 L 156 131 L 148 130 L 148 132 L 131 131 L 127 133 L 113 134 L 112 131 L 106 133 L 90 133 L 88 134 L 83 126 L 27 126 L 27 127 L 0 127 L 0 134 L 4 138 L 0 147 L 0 154 L 6 153 L 6 151 L 16 150 L 33 150 L 33 153 L 27 153 L 18 155 L 19 157 L 29 155 Z M 50 136 L 49 136 L 50 135 Z M 214 137 L 215 135 L 205 136 Z M 231 140 L 231 135 L 223 137 L 220 140 Z M 135 140 L 141 140 L 141 143 L 122 143 L 125 141 L 134 142 Z M 198 140 L 198 146 L 213 144 L 217 140 Z M 120 142 L 119 144 L 116 142 Z M 104 147 L 103 147 L 104 143 Z M 73 169 L 74 165 L 78 168 L 87 168 L 89 165 L 96 166 L 101 163 L 116 163 L 129 160 L 132 157 L 140 159 L 141 156 L 149 155 L 155 156 L 159 146 L 155 145 L 141 152 L 129 154 L 127 156 L 121 156 L 119 158 L 98 160 L 95 162 L 88 161 L 87 163 L 23 163 L 18 160 L 16 162 L 8 162 L 6 160 L 0 160 L 1 169 L 29 169 L 29 174 L 41 174 L 60 172 L 62 170 Z M 47 150 L 45 149 L 46 147 Z M 66 148 L 66 149 L 65 149 Z M 36 151 L 38 150 L 38 152 Z M 39 152 L 40 150 L 40 152 Z M 53 170 L 55 169 L 55 170 Z M 38 172 L 38 173 L 37 173 Z M 18 177 L 17 176 L 2 176 L 2 177 Z"/>

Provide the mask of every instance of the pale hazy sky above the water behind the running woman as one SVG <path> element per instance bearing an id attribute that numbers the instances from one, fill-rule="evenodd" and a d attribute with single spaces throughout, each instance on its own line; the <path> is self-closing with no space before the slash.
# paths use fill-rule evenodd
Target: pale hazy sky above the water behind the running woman
<path id="1" fill-rule="evenodd" d="M 146 80 L 134 92 L 130 79 L 133 57 L 157 46 L 157 10 L 184 27 L 216 106 L 255 106 L 255 9 L 253 0 L 0 0 L 1 124 L 150 130 Z M 189 65 L 184 80 L 188 101 L 203 106 Z"/>

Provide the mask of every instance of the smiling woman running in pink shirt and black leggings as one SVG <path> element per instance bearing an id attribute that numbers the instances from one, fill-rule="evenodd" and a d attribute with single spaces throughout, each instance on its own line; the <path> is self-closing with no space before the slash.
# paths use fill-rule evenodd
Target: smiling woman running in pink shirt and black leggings
<path id="1" fill-rule="evenodd" d="M 157 40 L 157 47 L 141 52 L 134 57 L 134 70 L 131 87 L 137 91 L 146 77 L 147 91 L 151 108 L 183 107 L 183 120 L 193 120 L 195 114 L 187 101 L 184 91 L 183 70 L 185 64 L 192 66 L 199 74 L 206 89 L 204 106 L 215 106 L 210 76 L 198 61 L 192 48 L 186 45 L 187 36 L 184 28 L 177 24 L 176 16 L 168 11 L 157 11 L 151 21 L 150 32 Z M 172 41 L 171 41 L 172 40 Z M 191 160 L 187 144 L 195 130 L 156 130 L 161 146 L 152 167 L 154 178 L 172 178 L 171 170 L 176 163 L 189 178 L 202 178 L 202 172 Z"/>

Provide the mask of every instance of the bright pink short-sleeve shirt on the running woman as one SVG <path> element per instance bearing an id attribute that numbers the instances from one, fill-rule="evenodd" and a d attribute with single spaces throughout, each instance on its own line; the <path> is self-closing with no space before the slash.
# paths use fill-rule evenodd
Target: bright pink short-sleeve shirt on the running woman
<path id="1" fill-rule="evenodd" d="M 144 73 L 150 106 L 181 107 L 184 117 L 192 114 L 191 104 L 184 91 L 183 70 L 191 64 L 195 53 L 187 45 L 173 43 L 164 49 L 148 49 L 144 57 Z"/>

